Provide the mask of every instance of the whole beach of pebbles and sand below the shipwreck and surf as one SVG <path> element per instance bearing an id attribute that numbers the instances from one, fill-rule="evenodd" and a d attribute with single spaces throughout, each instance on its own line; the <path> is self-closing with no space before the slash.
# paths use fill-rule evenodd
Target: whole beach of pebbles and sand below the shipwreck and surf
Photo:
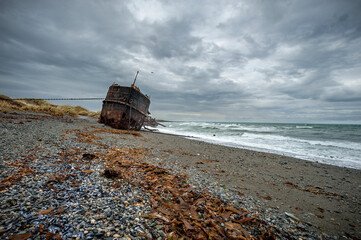
<path id="1" fill-rule="evenodd" d="M 229 239 L 242 239 L 232 235 L 241 222 L 250 239 L 361 237 L 360 170 L 155 132 L 114 131 L 95 119 L 8 113 L 0 114 L 0 124 L 1 239 L 167 239 L 175 220 L 160 205 L 170 197 L 155 193 L 162 186 L 148 186 L 154 179 L 180 179 L 185 195 L 207 192 L 207 209 L 209 199 L 231 209 L 213 211 L 222 219 L 219 226 L 207 223 L 206 212 L 197 220 Z M 132 167 L 138 169 L 133 175 L 120 171 Z M 143 172 L 148 175 L 138 175 Z M 191 220 L 183 220 L 185 232 L 201 228 Z M 198 239 L 212 238 L 202 229 Z"/>

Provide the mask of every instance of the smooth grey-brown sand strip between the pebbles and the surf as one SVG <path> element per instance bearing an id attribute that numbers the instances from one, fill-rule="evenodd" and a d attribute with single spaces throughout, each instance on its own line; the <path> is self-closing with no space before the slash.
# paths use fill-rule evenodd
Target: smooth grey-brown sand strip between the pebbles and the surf
<path id="1" fill-rule="evenodd" d="M 142 132 L 138 144 L 162 161 L 196 168 L 221 186 L 252 196 L 329 235 L 361 237 L 361 171 L 180 136 Z M 185 171 L 186 172 L 186 171 Z"/>

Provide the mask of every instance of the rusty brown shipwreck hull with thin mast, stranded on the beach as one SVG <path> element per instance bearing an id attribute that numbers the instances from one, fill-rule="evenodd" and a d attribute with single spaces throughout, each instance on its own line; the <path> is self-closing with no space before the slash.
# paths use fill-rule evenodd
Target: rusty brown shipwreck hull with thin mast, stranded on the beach
<path id="1" fill-rule="evenodd" d="M 149 114 L 150 99 L 135 86 L 139 71 L 130 87 L 113 84 L 103 101 L 100 123 L 116 129 L 137 130 Z"/>

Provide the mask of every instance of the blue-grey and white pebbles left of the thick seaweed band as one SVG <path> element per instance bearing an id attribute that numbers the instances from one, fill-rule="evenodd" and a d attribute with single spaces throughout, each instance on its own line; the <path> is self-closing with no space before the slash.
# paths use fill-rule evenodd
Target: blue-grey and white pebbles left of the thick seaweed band
<path id="1" fill-rule="evenodd" d="M 104 181 L 100 174 L 105 168 L 102 161 L 89 161 L 89 165 L 77 163 L 81 161 L 82 153 L 96 155 L 96 152 L 107 149 L 76 141 L 73 133 L 66 137 L 64 134 L 67 130 L 94 126 L 94 123 L 74 119 L 69 124 L 62 118 L 53 117 L 24 124 L 13 124 L 12 121 L 4 121 L 0 125 L 0 132 L 6 133 L 2 135 L 6 137 L 0 140 L 0 181 L 16 172 L 16 168 L 6 164 L 15 159 L 27 164 L 36 173 L 24 176 L 0 194 L 0 231 L 7 230 L 1 238 L 31 233 L 32 239 L 44 239 L 45 235 L 38 231 L 40 225 L 44 231 L 57 233 L 62 239 L 112 239 L 112 236 L 120 238 L 123 234 L 142 239 L 137 237 L 138 233 L 151 235 L 143 223 L 151 225 L 153 220 L 134 217 L 151 210 L 147 193 L 125 182 L 119 189 L 111 187 L 112 181 Z M 64 159 L 62 156 L 67 150 L 80 153 L 71 155 L 69 152 Z M 85 170 L 93 172 L 84 174 Z M 54 174 L 70 174 L 70 177 L 49 184 Z M 117 198 L 142 204 L 125 206 L 123 201 L 115 201 Z M 54 211 L 63 209 L 63 212 L 56 215 L 36 214 L 50 208 Z M 111 220 L 114 216 L 117 221 Z M 139 229 L 134 227 L 135 222 Z"/>

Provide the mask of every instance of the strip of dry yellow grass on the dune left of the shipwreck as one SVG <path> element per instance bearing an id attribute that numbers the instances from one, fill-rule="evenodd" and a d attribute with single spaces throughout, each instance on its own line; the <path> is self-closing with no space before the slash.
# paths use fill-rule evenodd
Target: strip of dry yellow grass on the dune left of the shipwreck
<path id="1" fill-rule="evenodd" d="M 46 113 L 53 116 L 88 116 L 99 117 L 100 111 L 92 112 L 81 106 L 55 105 L 44 100 L 13 100 L 5 95 L 0 95 L 0 111 L 11 112 L 36 112 Z"/>

